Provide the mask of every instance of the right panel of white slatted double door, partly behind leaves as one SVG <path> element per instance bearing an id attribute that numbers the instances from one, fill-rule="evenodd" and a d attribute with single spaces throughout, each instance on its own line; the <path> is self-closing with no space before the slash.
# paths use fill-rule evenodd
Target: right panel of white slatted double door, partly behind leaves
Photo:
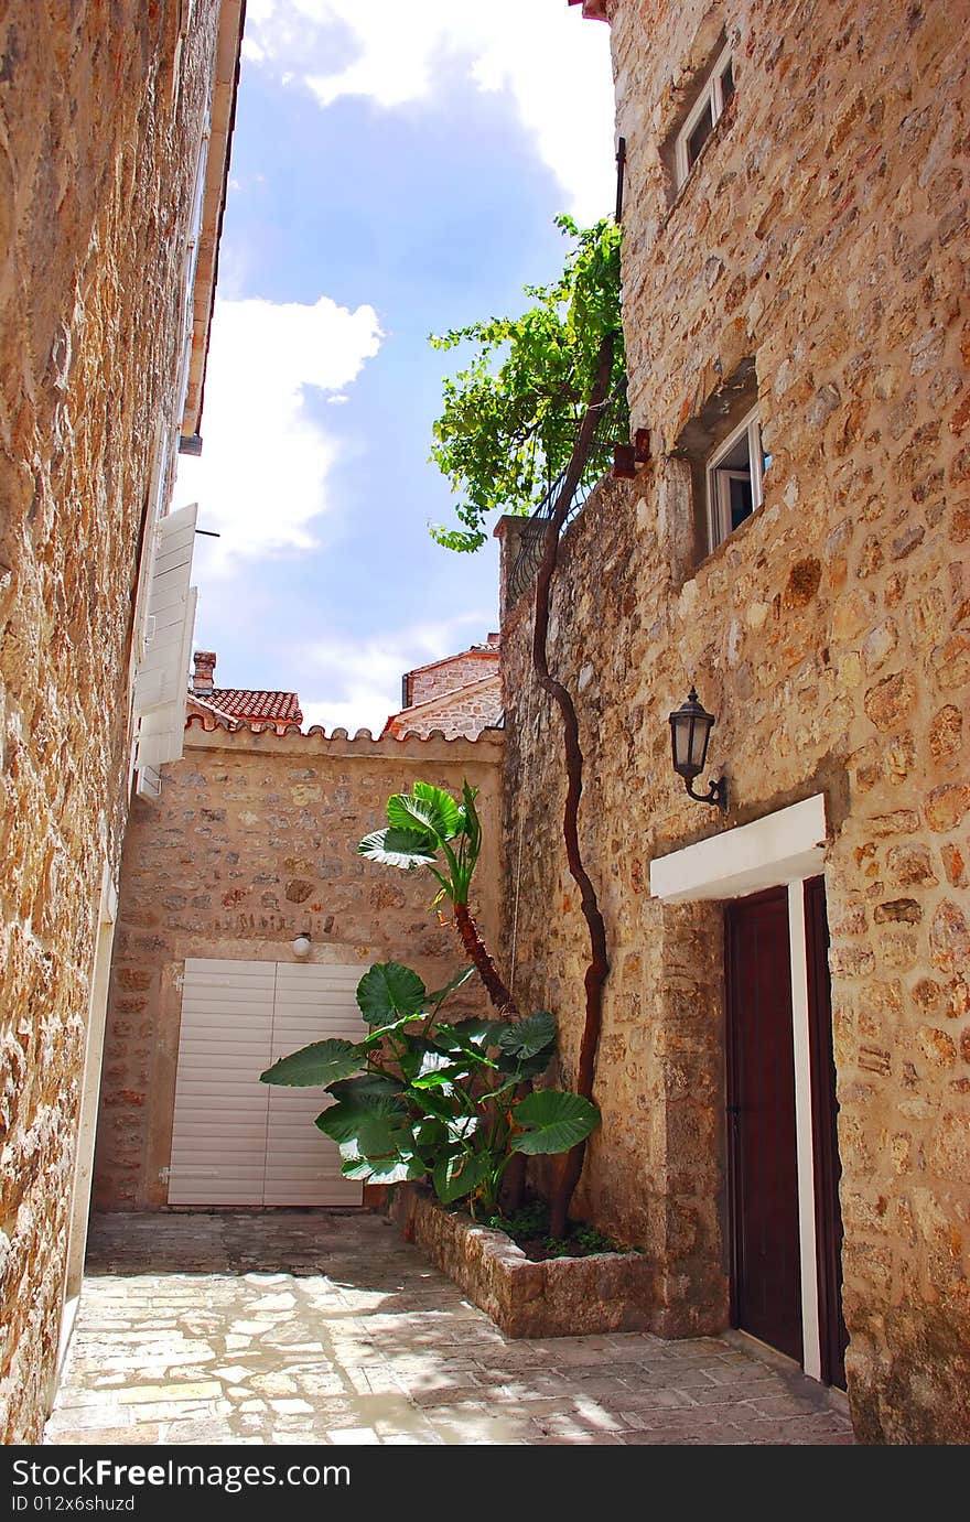
<path id="1" fill-rule="evenodd" d="M 343 1038 L 362 1041 L 367 1026 L 356 1006 L 359 966 L 277 963 L 273 1011 L 273 1061 L 309 1046 Z M 340 1172 L 340 1149 L 314 1126 L 332 1103 L 320 1088 L 270 1088 L 266 1125 L 266 1205 L 359 1205 L 361 1184 Z"/>

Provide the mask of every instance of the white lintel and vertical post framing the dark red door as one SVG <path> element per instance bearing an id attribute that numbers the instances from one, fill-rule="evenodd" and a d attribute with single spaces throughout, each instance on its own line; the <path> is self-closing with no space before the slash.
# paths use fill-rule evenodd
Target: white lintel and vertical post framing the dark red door
<path id="1" fill-rule="evenodd" d="M 825 794 L 816 793 L 725 829 L 650 863 L 650 895 L 667 904 L 693 900 L 746 898 L 766 887 L 787 887 L 792 965 L 792 1035 L 795 1052 L 795 1138 L 798 1157 L 798 1237 L 804 1371 L 822 1377 L 815 1228 L 815 1138 L 809 1058 L 809 960 L 804 883 L 825 863 Z"/>

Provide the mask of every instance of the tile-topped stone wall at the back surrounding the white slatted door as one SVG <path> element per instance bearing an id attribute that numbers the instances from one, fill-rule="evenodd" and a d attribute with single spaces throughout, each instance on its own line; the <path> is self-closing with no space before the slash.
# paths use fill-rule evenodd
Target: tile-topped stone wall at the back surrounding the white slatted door
<path id="1" fill-rule="evenodd" d="M 452 928 L 429 909 L 425 872 L 356 855 L 385 822 L 391 793 L 416 781 L 480 788 L 484 848 L 480 924 L 495 945 L 499 886 L 501 737 L 341 740 L 192 721 L 186 752 L 163 769 L 161 796 L 132 804 L 114 941 L 94 1201 L 152 1208 L 168 1199 L 184 959 L 289 962 L 308 930 L 311 960 L 399 960 L 440 988 L 463 965 Z M 455 1012 L 483 1008 L 477 980 Z"/>

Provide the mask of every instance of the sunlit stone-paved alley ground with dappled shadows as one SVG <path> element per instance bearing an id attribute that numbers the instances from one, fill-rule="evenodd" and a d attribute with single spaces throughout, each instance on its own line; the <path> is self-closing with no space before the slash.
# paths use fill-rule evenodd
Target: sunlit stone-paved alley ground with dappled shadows
<path id="1" fill-rule="evenodd" d="M 46 1443 L 850 1444 L 844 1402 L 726 1338 L 512 1341 L 381 1215 L 93 1222 Z"/>

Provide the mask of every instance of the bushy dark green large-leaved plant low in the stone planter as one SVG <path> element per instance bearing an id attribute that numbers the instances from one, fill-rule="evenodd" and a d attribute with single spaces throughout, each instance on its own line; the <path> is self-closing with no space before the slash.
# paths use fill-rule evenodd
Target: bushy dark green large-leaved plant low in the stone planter
<path id="1" fill-rule="evenodd" d="M 493 1213 L 516 1154 L 568 1152 L 598 1123 L 598 1110 L 556 1088 L 522 1094 L 553 1056 L 556 1021 L 545 1011 L 518 1021 L 440 1020 L 472 971 L 428 994 L 411 968 L 375 963 L 356 989 L 370 1033 L 314 1041 L 260 1078 L 332 1097 L 317 1126 L 340 1146 L 347 1178 L 428 1178 L 443 1202 Z"/>

